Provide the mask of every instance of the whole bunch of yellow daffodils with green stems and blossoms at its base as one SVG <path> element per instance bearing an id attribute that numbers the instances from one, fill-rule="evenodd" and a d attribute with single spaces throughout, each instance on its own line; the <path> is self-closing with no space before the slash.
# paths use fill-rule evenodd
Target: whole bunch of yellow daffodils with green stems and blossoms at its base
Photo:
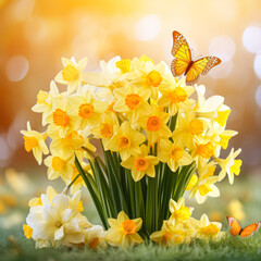
<path id="1" fill-rule="evenodd" d="M 37 247 L 92 249 L 217 237 L 221 224 L 206 214 L 191 217 L 184 194 L 203 203 L 220 195 L 215 184 L 226 174 L 231 184 L 239 174 L 239 149 L 220 158 L 237 134 L 225 129 L 231 110 L 224 98 L 207 99 L 204 86 L 186 86 L 164 62 L 146 55 L 101 61 L 100 73 L 84 72 L 87 59 L 62 63 L 50 91 L 40 90 L 33 107 L 46 130 L 33 130 L 28 122 L 21 133 L 39 164 L 49 154 L 48 178 L 61 177 L 66 187 L 61 194 L 48 187 L 29 201 L 25 236 Z M 80 213 L 84 186 L 103 226 Z"/>

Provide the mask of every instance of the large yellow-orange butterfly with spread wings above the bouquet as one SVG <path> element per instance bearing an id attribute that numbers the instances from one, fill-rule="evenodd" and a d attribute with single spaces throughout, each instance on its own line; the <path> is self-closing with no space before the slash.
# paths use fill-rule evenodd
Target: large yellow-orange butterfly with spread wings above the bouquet
<path id="1" fill-rule="evenodd" d="M 190 48 L 182 34 L 173 32 L 173 48 L 171 70 L 174 77 L 185 73 L 186 84 L 192 85 L 198 82 L 200 74 L 206 75 L 212 67 L 221 63 L 216 57 L 203 57 L 197 61 L 191 60 Z"/>

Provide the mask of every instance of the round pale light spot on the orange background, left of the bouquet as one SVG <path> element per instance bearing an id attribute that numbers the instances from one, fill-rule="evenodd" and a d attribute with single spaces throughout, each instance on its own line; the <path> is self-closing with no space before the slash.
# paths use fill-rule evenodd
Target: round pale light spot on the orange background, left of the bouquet
<path id="1" fill-rule="evenodd" d="M 11 82 L 22 80 L 29 71 L 29 62 L 25 57 L 12 57 L 7 64 L 5 72 Z"/>

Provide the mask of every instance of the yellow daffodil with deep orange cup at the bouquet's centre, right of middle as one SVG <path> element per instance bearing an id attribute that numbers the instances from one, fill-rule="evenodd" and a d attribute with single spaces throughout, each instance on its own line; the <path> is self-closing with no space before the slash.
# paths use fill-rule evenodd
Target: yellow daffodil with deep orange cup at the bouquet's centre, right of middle
<path id="1" fill-rule="evenodd" d="M 171 136 L 171 130 L 166 125 L 169 119 L 169 113 L 162 112 L 161 109 L 154 104 L 151 105 L 150 115 L 140 117 L 139 124 L 146 130 L 149 146 Z"/>

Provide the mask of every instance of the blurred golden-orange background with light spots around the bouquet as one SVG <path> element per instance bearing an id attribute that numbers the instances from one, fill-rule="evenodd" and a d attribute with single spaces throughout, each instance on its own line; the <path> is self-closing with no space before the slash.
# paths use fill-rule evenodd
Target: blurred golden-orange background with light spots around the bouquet
<path id="1" fill-rule="evenodd" d="M 199 84 L 207 86 L 207 96 L 225 97 L 232 108 L 227 127 L 239 133 L 231 147 L 243 149 L 235 189 L 225 179 L 222 198 L 209 199 L 197 211 L 216 221 L 224 221 L 227 211 L 241 221 L 244 211 L 250 222 L 260 215 L 260 0 L 0 0 L 0 214 L 5 214 L 0 226 L 23 223 L 28 199 L 46 189 L 47 167 L 24 150 L 20 130 L 28 120 L 34 129 L 44 130 L 40 115 L 30 108 L 62 69 L 61 57 L 87 57 L 87 71 L 92 72 L 99 71 L 100 60 L 114 55 L 145 53 L 170 64 L 174 29 L 186 37 L 194 58 L 222 59 Z M 63 182 L 51 185 L 62 189 Z"/>

